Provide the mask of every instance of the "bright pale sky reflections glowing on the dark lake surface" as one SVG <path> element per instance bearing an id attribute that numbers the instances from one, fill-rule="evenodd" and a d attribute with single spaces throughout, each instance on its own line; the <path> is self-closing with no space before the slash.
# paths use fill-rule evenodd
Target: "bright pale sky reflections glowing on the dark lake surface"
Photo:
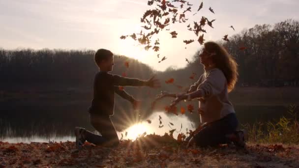
<path id="1" fill-rule="evenodd" d="M 161 122 L 164 125 L 163 127 L 159 128 L 160 120 L 159 116 L 161 116 Z M 118 132 L 119 138 L 122 137 L 123 140 L 135 140 L 138 136 L 141 136 L 146 132 L 146 134 L 156 134 L 156 135 L 164 135 L 168 133 L 169 130 L 176 129 L 174 132 L 174 137 L 176 138 L 179 133 L 186 132 L 186 129 L 195 129 L 193 128 L 195 123 L 191 122 L 186 115 L 167 115 L 165 112 L 154 112 L 152 113 L 147 119 L 151 120 L 151 123 L 147 122 L 146 120 L 135 123 L 134 125 L 130 126 L 129 128 L 123 130 L 122 132 Z M 172 123 L 173 125 L 171 125 Z M 127 135 L 125 136 L 125 133 Z M 122 134 L 122 135 L 121 135 Z M 74 141 L 75 137 L 73 135 L 68 136 L 56 136 L 54 134 L 43 137 L 32 135 L 30 137 L 2 137 L 0 141 L 7 141 L 10 143 L 30 143 L 33 142 L 49 142 L 49 141 Z"/>

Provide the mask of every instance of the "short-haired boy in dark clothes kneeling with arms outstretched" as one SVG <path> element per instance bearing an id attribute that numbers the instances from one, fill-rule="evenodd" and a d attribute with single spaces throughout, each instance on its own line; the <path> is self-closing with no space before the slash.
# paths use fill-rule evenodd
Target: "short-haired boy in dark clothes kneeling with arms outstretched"
<path id="1" fill-rule="evenodd" d="M 134 108 L 138 101 L 124 90 L 120 90 L 119 86 L 149 86 L 153 88 L 160 86 L 159 81 L 153 77 L 147 81 L 141 81 L 110 74 L 114 62 L 113 53 L 109 50 L 99 49 L 94 55 L 94 61 L 99 67 L 99 72 L 96 73 L 94 78 L 93 100 L 89 108 L 90 123 L 102 136 L 93 134 L 84 128 L 76 127 L 77 148 L 81 148 L 85 140 L 96 145 L 105 146 L 114 146 L 120 143 L 110 119 L 110 116 L 114 114 L 114 93 L 131 102 Z"/>

